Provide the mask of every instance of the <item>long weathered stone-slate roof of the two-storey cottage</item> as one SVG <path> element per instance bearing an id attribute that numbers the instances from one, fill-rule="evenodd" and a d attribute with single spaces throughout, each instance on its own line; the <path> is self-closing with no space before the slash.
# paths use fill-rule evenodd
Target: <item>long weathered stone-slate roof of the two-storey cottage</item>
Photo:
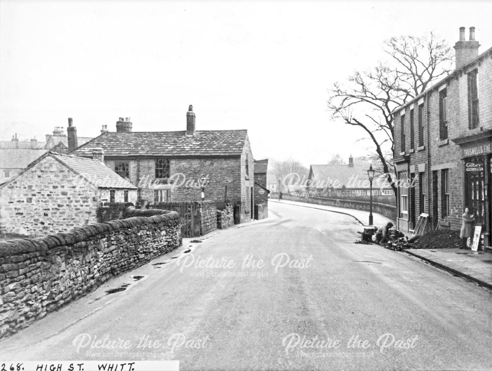
<path id="1" fill-rule="evenodd" d="M 243 153 L 247 130 L 202 130 L 193 136 L 179 132 L 105 133 L 71 152 L 92 157 L 92 148 L 102 147 L 105 157 L 237 157 Z"/>

